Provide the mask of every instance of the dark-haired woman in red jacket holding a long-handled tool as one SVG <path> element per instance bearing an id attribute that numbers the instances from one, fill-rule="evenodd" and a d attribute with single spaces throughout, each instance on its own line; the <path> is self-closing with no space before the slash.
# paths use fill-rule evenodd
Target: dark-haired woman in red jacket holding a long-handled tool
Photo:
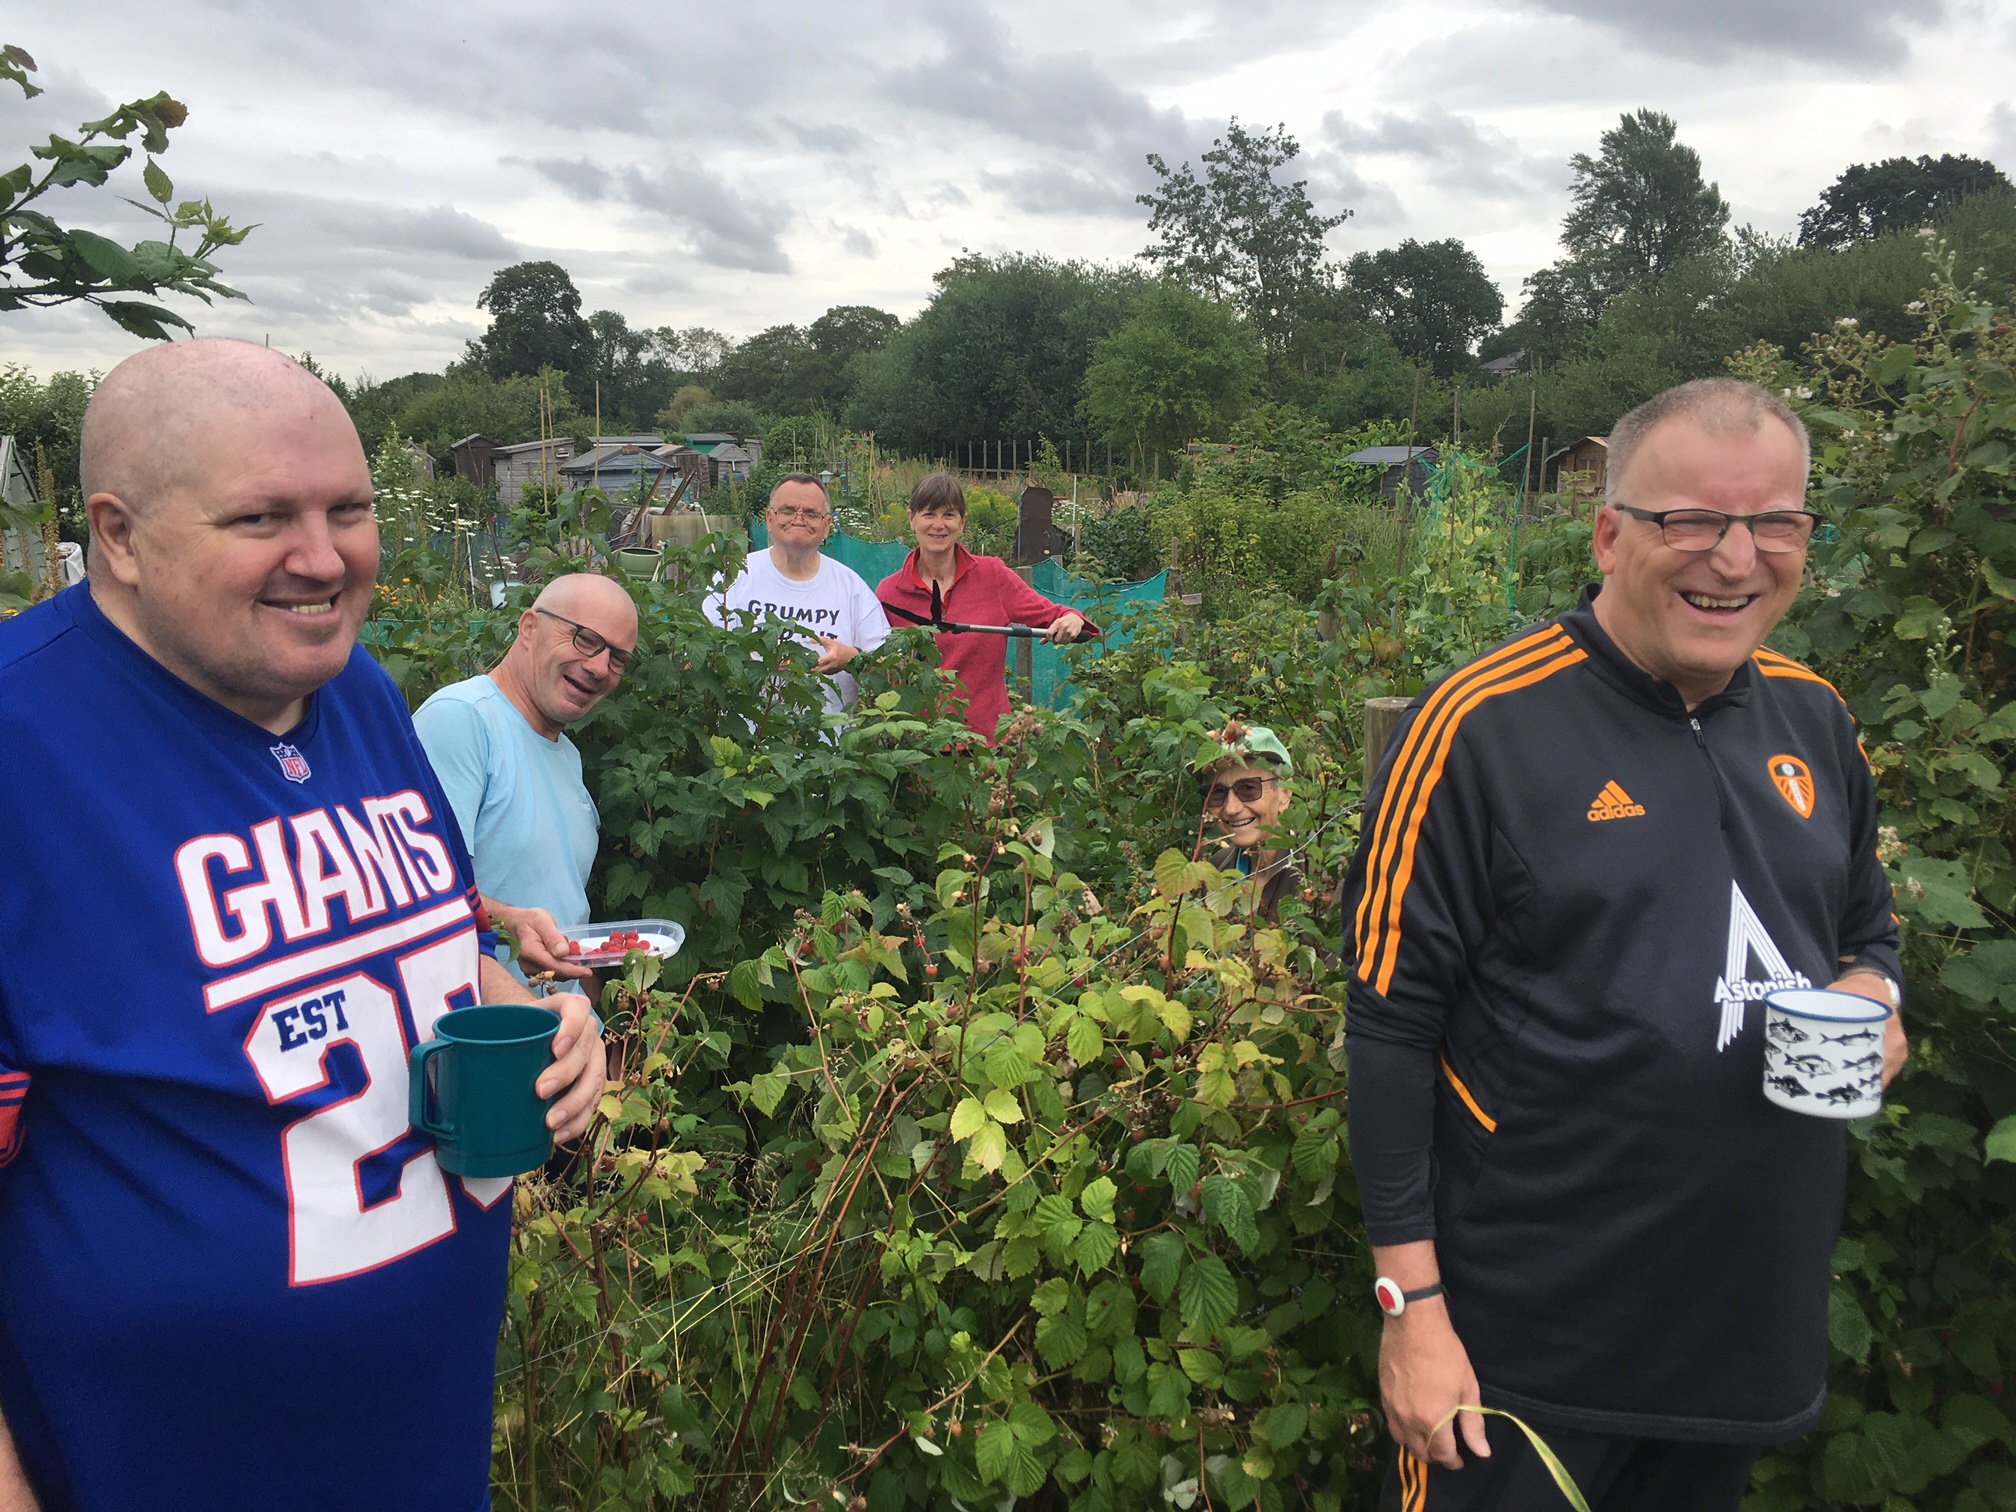
<path id="1" fill-rule="evenodd" d="M 948 472 L 933 472 L 909 496 L 909 528 L 917 548 L 875 585 L 875 597 L 897 625 L 931 617 L 931 585 L 939 613 L 962 625 L 1034 625 L 1052 645 L 1068 645 L 1083 631 L 1097 635 L 1077 609 L 1050 603 L 1016 577 L 1000 556 L 974 556 L 960 544 L 966 534 L 966 490 Z M 913 619 L 911 619 L 913 617 Z M 941 631 L 937 655 L 966 687 L 966 724 L 994 740 L 994 726 L 1008 712 L 1008 637 Z"/>

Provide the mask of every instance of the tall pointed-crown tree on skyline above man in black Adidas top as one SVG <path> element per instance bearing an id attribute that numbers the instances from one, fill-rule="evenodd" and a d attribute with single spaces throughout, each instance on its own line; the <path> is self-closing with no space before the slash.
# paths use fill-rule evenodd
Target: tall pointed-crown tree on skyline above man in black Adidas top
<path id="1" fill-rule="evenodd" d="M 1570 256 L 1611 274 L 1613 286 L 1657 278 L 1722 244 L 1730 206 L 1702 177 L 1702 155 L 1661 111 L 1625 115 L 1601 151 L 1568 159 L 1574 208 L 1560 226 Z"/>

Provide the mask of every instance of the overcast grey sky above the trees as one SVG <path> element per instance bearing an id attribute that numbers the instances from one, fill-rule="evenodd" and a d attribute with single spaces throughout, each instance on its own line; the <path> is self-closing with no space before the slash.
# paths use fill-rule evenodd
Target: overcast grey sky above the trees
<path id="1" fill-rule="evenodd" d="M 48 89 L 0 97 L 0 167 L 169 91 L 161 165 L 258 230 L 250 302 L 177 304 L 341 373 L 439 369 L 476 294 L 554 258 L 587 308 L 732 337 L 831 304 L 909 317 L 960 248 L 1131 258 L 1143 157 L 1284 121 L 1339 256 L 1460 236 L 1518 302 L 1574 151 L 1667 111 L 1734 220 L 1786 234 L 1853 161 L 2016 173 L 2016 0 L 26 0 Z M 137 167 L 115 185 L 143 198 Z M 133 240 L 111 194 L 52 210 Z M 0 317 L 0 361 L 107 367 L 87 310 Z"/>

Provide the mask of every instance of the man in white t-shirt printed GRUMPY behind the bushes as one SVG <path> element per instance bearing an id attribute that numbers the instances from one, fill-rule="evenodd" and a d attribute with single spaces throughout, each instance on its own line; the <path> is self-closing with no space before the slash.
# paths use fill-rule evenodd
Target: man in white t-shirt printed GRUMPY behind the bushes
<path id="1" fill-rule="evenodd" d="M 752 550 L 742 577 L 708 599 L 708 619 L 754 625 L 774 615 L 804 625 L 818 637 L 812 671 L 827 679 L 827 714 L 839 714 L 859 691 L 847 663 L 889 639 L 889 619 L 855 569 L 818 552 L 833 534 L 833 502 L 818 478 L 804 472 L 784 478 L 770 490 L 764 522 L 770 546 Z"/>

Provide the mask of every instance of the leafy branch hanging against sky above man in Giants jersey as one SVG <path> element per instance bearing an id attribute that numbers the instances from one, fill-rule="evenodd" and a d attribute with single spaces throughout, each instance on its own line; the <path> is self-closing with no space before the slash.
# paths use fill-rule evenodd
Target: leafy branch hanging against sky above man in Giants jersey
<path id="1" fill-rule="evenodd" d="M 42 89 L 28 79 L 34 58 L 18 46 L 0 46 L 0 79 L 20 87 L 26 99 Z M 171 329 L 194 331 L 183 317 L 159 304 L 127 298 L 145 294 L 190 294 L 206 304 L 216 298 L 244 298 L 220 282 L 210 260 L 226 246 L 238 246 L 252 232 L 232 226 L 208 200 L 183 200 L 169 208 L 175 185 L 155 161 L 167 151 L 167 133 L 190 119 L 190 107 L 165 93 L 121 105 L 101 121 L 85 121 L 77 139 L 50 133 L 30 155 L 46 163 L 20 163 L 0 173 L 0 310 L 48 304 L 97 304 L 135 337 L 167 341 Z M 129 206 L 167 228 L 165 242 L 119 246 L 97 232 L 65 228 L 44 200 L 54 190 L 79 183 L 103 187 L 133 155 L 139 137 L 147 165 L 141 183 L 151 204 Z M 192 244 L 183 244 L 187 238 Z"/>

